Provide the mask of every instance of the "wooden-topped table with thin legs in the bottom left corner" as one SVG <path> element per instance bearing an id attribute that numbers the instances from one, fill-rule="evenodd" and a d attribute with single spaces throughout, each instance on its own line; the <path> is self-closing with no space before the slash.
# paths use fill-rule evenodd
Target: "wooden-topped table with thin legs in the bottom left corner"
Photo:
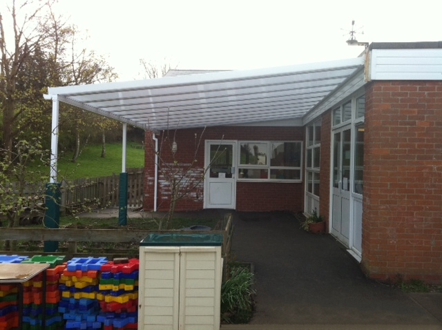
<path id="1" fill-rule="evenodd" d="M 46 323 L 46 269 L 50 264 L 0 264 L 0 284 L 17 284 L 19 287 L 19 329 L 23 322 L 23 283 L 32 280 L 43 272 L 43 303 L 41 321 L 44 329 Z"/>

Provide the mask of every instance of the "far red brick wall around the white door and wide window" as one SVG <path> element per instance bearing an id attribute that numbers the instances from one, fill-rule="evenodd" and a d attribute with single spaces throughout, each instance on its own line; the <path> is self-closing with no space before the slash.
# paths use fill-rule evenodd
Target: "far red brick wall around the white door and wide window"
<path id="1" fill-rule="evenodd" d="M 203 139 L 196 153 L 198 159 L 197 166 L 193 166 L 198 173 L 202 173 L 204 166 L 204 140 L 206 139 L 224 139 L 227 140 L 265 140 L 265 141 L 302 141 L 303 128 L 301 127 L 213 127 L 186 130 L 177 130 L 169 132 L 169 140 L 173 139 L 177 142 L 176 157 L 180 164 L 189 164 L 195 155 L 195 144 L 202 135 Z M 195 140 L 195 134 L 197 139 Z M 167 133 L 163 134 L 163 141 L 166 141 Z M 144 209 L 153 208 L 153 157 L 154 153 L 149 151 L 149 145 L 152 145 L 148 139 L 151 136 L 146 134 L 146 174 L 145 174 L 145 196 Z M 162 157 L 166 162 L 171 162 L 169 142 L 162 142 L 160 145 L 166 145 L 163 148 Z M 148 164 L 151 164 L 150 166 Z M 198 173 L 195 176 L 198 177 Z M 166 210 L 169 208 L 170 189 L 164 179 L 160 177 L 158 191 L 158 208 Z M 203 182 L 197 189 L 184 197 L 177 203 L 176 211 L 191 211 L 203 208 Z M 238 211 L 276 211 L 290 210 L 302 211 L 302 184 L 294 183 L 273 183 L 273 182 L 237 182 L 236 191 L 236 209 Z"/>

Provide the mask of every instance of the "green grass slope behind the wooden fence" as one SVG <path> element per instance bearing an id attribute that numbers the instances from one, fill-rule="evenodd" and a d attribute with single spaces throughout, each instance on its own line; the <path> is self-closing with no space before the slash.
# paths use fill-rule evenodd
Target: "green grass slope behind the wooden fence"
<path id="1" fill-rule="evenodd" d="M 122 144 L 106 144 L 106 157 L 102 158 L 102 145 L 91 144 L 85 146 L 77 159 L 73 163 L 73 153 L 59 155 L 58 171 L 59 180 L 79 179 L 89 177 L 106 177 L 119 174 L 122 171 Z M 132 148 L 128 145 L 126 149 L 126 168 L 144 167 L 144 148 Z M 49 173 L 49 168 L 48 168 Z"/>

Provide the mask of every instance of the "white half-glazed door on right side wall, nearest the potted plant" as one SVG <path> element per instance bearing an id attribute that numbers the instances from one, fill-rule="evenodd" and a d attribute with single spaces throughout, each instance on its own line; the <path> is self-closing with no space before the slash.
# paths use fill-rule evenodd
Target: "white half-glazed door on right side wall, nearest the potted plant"
<path id="1" fill-rule="evenodd" d="M 349 246 L 350 188 L 352 178 L 352 133 L 343 128 L 334 133 L 332 234 Z"/>

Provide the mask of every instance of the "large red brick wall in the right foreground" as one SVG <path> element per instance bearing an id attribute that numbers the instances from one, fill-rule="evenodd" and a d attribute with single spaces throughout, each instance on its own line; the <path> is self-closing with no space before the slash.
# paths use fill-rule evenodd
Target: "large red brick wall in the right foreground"
<path id="1" fill-rule="evenodd" d="M 441 282 L 442 81 L 369 84 L 364 153 L 363 268 Z"/>

